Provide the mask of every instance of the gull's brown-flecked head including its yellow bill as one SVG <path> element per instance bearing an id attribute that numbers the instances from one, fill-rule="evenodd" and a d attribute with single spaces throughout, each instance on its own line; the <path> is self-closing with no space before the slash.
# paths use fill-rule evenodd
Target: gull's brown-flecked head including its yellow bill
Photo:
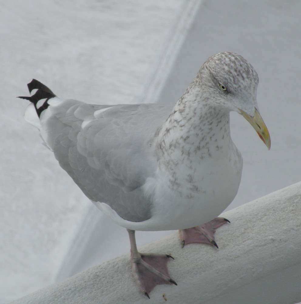
<path id="1" fill-rule="evenodd" d="M 270 149 L 269 131 L 257 105 L 258 74 L 254 67 L 238 54 L 223 52 L 208 58 L 198 77 L 208 102 L 244 116 Z"/>

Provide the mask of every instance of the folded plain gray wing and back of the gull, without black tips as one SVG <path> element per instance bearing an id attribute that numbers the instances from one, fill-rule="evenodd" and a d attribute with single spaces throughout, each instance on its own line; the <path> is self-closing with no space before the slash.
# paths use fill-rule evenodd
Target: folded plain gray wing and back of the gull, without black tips
<path id="1" fill-rule="evenodd" d="M 149 219 L 151 197 L 141 188 L 157 168 L 149 140 L 171 108 L 67 100 L 51 110 L 45 124 L 55 157 L 84 194 L 126 220 Z"/>

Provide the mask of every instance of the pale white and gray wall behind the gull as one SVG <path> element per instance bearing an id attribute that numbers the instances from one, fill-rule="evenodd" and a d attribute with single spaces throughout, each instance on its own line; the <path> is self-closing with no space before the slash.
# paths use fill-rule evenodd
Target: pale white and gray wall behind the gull
<path id="1" fill-rule="evenodd" d="M 300 2 L 280 0 L 0 3 L 2 303 L 129 249 L 126 231 L 97 212 L 23 121 L 26 102 L 15 96 L 31 78 L 90 103 L 175 103 L 209 56 L 243 55 L 259 74 L 272 149 L 231 116 L 244 158 L 233 208 L 301 180 L 300 13 Z M 142 245 L 164 233 L 137 234 Z"/>

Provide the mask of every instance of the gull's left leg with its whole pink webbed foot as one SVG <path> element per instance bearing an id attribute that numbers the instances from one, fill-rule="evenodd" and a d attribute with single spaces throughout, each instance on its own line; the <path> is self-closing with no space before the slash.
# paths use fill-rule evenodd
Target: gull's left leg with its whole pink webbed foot
<path id="1" fill-rule="evenodd" d="M 149 292 L 158 284 L 174 284 L 174 280 L 169 276 L 167 262 L 168 254 L 140 254 L 137 250 L 135 231 L 127 229 L 130 237 L 131 263 L 134 278 L 141 291 L 149 298 Z"/>

